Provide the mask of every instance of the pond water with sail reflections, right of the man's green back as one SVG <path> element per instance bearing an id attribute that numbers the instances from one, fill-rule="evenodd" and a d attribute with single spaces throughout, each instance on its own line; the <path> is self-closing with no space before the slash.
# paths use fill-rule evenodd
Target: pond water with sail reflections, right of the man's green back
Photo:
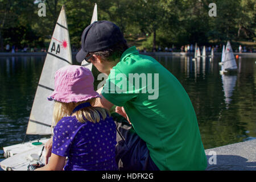
<path id="1" fill-rule="evenodd" d="M 255 59 L 240 57 L 238 73 L 221 76 L 221 57 L 157 57 L 184 86 L 205 148 L 256 137 Z M 171 93 L 170 93 L 171 94 Z"/>

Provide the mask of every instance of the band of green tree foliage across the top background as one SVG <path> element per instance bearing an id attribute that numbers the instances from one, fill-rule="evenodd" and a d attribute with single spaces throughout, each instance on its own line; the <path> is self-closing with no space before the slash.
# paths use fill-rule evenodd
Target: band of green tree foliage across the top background
<path id="1" fill-rule="evenodd" d="M 38 16 L 38 3 L 46 17 Z M 255 0 L 216 0 L 217 16 L 210 17 L 211 0 L 0 0 L 0 43 L 47 46 L 62 5 L 65 5 L 71 44 L 79 47 L 82 31 L 90 24 L 94 3 L 98 20 L 110 20 L 133 42 L 145 38 L 148 48 L 172 44 L 255 41 Z"/>

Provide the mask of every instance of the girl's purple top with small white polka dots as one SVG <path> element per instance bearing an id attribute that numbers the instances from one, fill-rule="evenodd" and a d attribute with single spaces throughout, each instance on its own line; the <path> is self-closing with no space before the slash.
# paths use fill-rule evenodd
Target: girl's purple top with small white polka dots
<path id="1" fill-rule="evenodd" d="M 115 171 L 116 129 L 112 117 L 98 123 L 63 117 L 53 130 L 52 153 L 67 156 L 65 171 Z"/>

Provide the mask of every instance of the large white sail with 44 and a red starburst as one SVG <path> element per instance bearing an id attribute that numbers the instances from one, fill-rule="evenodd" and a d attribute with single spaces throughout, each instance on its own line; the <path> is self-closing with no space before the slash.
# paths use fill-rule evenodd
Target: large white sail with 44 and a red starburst
<path id="1" fill-rule="evenodd" d="M 53 31 L 46 60 L 44 61 L 44 66 L 40 76 L 38 88 L 36 90 L 34 103 L 32 105 L 26 134 L 51 134 L 53 102 L 48 101 L 47 97 L 54 90 L 55 72 L 61 67 L 71 64 L 72 55 L 68 24 L 63 6 Z"/>

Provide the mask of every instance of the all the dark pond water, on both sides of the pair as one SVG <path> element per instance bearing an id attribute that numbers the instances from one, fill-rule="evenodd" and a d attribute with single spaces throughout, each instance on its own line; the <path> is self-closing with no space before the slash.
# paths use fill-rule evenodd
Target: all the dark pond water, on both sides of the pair
<path id="1" fill-rule="evenodd" d="M 242 56 L 237 59 L 237 74 L 222 77 L 221 57 L 197 61 L 192 57 L 153 57 L 180 81 L 191 98 L 205 149 L 256 138 L 255 58 Z M 0 160 L 2 147 L 24 140 L 44 59 L 0 57 Z M 37 138 L 28 135 L 26 141 Z"/>

